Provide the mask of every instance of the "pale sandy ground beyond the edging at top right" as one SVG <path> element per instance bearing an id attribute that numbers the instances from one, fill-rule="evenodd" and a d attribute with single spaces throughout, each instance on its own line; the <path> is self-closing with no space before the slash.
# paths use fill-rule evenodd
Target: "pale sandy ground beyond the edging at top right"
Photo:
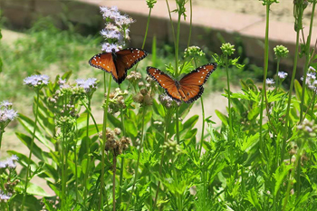
<path id="1" fill-rule="evenodd" d="M 265 6 L 259 0 L 193 0 L 193 5 L 207 6 L 219 10 L 232 11 L 241 14 L 265 16 Z M 304 11 L 303 24 L 310 23 L 312 5 Z M 293 23 L 293 0 L 280 0 L 271 5 L 270 19 L 274 21 Z M 317 25 L 317 12 L 314 13 L 314 25 Z"/>

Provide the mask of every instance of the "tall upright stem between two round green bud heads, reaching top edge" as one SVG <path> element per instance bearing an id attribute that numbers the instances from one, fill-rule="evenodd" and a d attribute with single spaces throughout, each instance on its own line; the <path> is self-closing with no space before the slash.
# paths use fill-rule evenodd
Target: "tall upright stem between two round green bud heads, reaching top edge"
<path id="1" fill-rule="evenodd" d="M 260 110 L 260 148 L 264 153 L 264 139 L 263 139 L 263 112 L 264 112 L 264 99 L 266 101 L 266 77 L 269 61 L 269 23 L 270 23 L 270 3 L 266 3 L 266 25 L 265 25 L 265 43 L 264 43 L 264 82 L 262 88 L 262 101 Z"/>

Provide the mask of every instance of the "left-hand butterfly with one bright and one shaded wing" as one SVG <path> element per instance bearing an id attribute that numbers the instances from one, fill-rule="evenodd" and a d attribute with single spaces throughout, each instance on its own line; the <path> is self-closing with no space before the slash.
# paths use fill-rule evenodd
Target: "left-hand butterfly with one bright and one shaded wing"
<path id="1" fill-rule="evenodd" d="M 128 70 L 147 55 L 147 52 L 138 48 L 127 48 L 118 52 L 112 49 L 111 53 L 98 53 L 92 56 L 89 64 L 102 71 L 110 72 L 113 80 L 120 84 L 127 77 Z"/>

